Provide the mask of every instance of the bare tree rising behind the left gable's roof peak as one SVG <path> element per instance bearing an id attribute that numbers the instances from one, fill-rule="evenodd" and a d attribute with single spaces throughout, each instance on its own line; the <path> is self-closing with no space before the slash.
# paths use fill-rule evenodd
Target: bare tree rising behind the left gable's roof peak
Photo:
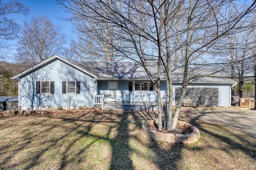
<path id="1" fill-rule="evenodd" d="M 46 16 L 32 18 L 30 23 L 24 22 L 16 57 L 32 66 L 60 53 L 65 41 L 66 35 L 61 33 L 61 27 L 55 26 Z"/>

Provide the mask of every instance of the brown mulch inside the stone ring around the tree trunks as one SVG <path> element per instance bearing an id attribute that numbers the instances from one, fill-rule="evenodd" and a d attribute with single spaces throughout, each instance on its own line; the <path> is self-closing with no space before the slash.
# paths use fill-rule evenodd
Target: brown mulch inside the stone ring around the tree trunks
<path id="1" fill-rule="evenodd" d="M 154 131 L 157 131 L 158 132 L 158 123 L 153 123 L 153 125 L 148 125 L 148 127 L 151 129 L 151 130 L 154 130 Z M 184 127 L 184 126 L 181 126 L 181 125 L 177 125 L 176 126 L 176 129 L 175 130 L 172 130 L 172 131 L 167 131 L 167 129 L 165 129 L 164 127 L 162 127 L 162 131 L 163 133 L 174 133 L 174 134 L 188 134 L 188 133 L 191 133 L 192 130 Z"/>

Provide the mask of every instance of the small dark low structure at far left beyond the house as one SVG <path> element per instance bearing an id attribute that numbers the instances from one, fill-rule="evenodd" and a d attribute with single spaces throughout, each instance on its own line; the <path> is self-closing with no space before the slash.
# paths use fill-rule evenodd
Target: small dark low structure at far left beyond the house
<path id="1" fill-rule="evenodd" d="M 0 111 L 18 109 L 18 96 L 0 96 Z"/>

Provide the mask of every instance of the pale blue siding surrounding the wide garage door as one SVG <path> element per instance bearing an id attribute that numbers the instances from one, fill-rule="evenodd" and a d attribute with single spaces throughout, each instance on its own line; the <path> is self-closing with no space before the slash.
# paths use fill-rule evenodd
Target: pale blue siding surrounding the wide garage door
<path id="1" fill-rule="evenodd" d="M 175 104 L 177 99 L 175 100 L 175 88 L 181 87 L 181 84 L 173 84 L 173 98 L 172 102 Z M 188 85 L 187 88 L 212 88 L 216 91 L 216 88 L 218 88 L 218 106 L 226 106 L 229 107 L 229 101 L 230 101 L 230 85 L 229 84 L 194 84 L 194 85 Z M 217 91 L 216 91 L 217 92 Z M 198 93 L 200 93 L 200 90 L 198 90 Z"/>

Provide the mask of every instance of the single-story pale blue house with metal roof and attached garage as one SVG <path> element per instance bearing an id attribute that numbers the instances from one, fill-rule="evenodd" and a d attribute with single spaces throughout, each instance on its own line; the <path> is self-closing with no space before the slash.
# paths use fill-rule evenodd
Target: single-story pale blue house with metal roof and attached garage
<path id="1" fill-rule="evenodd" d="M 154 71 L 154 68 L 151 70 Z M 164 75 L 164 74 L 163 74 Z M 180 96 L 182 77 L 173 73 L 173 104 Z M 144 68 L 130 62 L 72 62 L 57 55 L 12 77 L 19 82 L 19 109 L 56 109 L 79 106 L 104 109 L 154 109 L 157 96 Z M 161 96 L 166 98 L 162 76 Z M 196 106 L 230 106 L 229 78 L 203 77 L 188 85 L 185 98 Z M 71 98 L 72 97 L 72 98 Z M 70 101 L 68 101 L 70 99 Z"/>

